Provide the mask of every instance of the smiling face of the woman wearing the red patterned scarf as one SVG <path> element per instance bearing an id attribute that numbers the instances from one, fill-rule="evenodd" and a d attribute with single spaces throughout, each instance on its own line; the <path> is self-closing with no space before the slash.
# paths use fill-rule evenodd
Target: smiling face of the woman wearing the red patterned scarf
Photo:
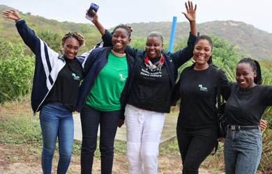
<path id="1" fill-rule="evenodd" d="M 160 38 L 149 37 L 146 40 L 146 54 L 149 58 L 158 58 L 163 51 L 163 43 Z"/>

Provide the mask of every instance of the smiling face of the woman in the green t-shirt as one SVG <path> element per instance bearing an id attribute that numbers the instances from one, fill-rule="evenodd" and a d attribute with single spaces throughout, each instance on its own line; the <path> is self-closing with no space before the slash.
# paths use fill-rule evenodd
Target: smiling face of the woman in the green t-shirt
<path id="1" fill-rule="evenodd" d="M 123 54 L 125 52 L 126 45 L 130 43 L 128 31 L 126 29 L 116 29 L 112 35 L 113 51 Z"/>

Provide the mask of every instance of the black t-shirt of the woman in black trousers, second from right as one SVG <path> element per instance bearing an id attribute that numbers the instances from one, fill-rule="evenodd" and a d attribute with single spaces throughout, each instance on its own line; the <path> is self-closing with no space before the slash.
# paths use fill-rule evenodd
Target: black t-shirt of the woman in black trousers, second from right
<path id="1" fill-rule="evenodd" d="M 181 107 L 178 124 L 188 129 L 217 129 L 216 96 L 218 71 L 215 66 L 206 70 L 185 68 L 181 73 Z M 225 73 L 220 70 L 221 92 L 229 89 Z"/>

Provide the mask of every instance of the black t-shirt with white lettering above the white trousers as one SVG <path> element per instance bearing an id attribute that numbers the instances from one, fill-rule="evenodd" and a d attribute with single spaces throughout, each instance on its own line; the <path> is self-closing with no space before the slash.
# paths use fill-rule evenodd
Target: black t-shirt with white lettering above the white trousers
<path id="1" fill-rule="evenodd" d="M 156 63 L 160 58 L 151 58 Z M 143 62 L 130 90 L 128 104 L 160 113 L 169 113 L 171 105 L 171 81 L 165 63 L 159 70 L 151 71 Z"/>

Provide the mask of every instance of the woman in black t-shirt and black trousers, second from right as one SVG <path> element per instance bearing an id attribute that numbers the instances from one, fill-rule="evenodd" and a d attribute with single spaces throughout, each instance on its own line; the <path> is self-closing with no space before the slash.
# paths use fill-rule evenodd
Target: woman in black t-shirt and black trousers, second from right
<path id="1" fill-rule="evenodd" d="M 218 80 L 222 96 L 227 99 L 229 84 L 225 73 L 212 65 L 213 42 L 207 35 L 195 41 L 195 63 L 183 70 L 179 95 L 181 106 L 176 136 L 181 152 L 183 173 L 198 173 L 218 139 L 216 94 Z M 219 74 L 218 74 L 219 73 Z"/>

